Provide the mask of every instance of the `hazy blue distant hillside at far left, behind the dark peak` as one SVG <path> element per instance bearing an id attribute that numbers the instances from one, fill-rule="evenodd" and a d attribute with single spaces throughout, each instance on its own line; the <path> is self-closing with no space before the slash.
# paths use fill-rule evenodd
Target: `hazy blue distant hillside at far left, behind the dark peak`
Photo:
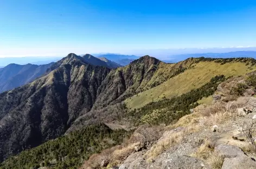
<path id="1" fill-rule="evenodd" d="M 34 81 L 42 76 L 53 63 L 42 64 L 9 64 L 0 69 L 0 93 Z"/>

